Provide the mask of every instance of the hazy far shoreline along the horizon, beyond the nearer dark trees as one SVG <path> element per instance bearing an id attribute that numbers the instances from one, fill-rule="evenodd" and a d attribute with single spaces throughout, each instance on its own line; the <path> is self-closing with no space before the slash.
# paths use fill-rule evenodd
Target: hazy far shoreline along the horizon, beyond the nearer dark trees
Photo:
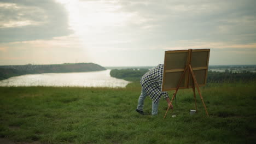
<path id="1" fill-rule="evenodd" d="M 127 66 L 127 67 L 102 67 L 94 63 L 64 63 L 64 64 L 42 64 L 42 65 L 1 65 L 0 80 L 9 77 L 26 75 L 26 74 L 42 74 L 42 73 L 79 73 L 86 71 L 101 71 L 106 69 L 151 69 L 153 66 Z M 249 71 L 256 73 L 256 65 L 209 65 L 208 71 L 217 71 L 224 73 L 244 73 Z"/>

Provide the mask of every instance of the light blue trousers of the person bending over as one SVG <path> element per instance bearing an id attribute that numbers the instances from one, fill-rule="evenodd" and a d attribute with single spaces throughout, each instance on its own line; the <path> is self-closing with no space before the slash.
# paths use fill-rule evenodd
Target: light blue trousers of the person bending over
<path id="1" fill-rule="evenodd" d="M 143 111 L 144 99 L 147 97 L 147 95 L 148 94 L 147 94 L 146 90 L 143 87 L 141 87 L 141 95 L 139 96 L 138 106 L 137 106 L 138 110 Z M 159 101 L 160 100 L 158 100 L 158 103 L 156 103 L 156 104 L 152 101 L 152 115 L 158 115 Z"/>

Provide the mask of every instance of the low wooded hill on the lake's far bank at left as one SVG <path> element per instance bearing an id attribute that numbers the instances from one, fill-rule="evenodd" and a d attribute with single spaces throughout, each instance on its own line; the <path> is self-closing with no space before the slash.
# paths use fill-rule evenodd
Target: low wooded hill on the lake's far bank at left
<path id="1" fill-rule="evenodd" d="M 72 73 L 106 70 L 106 68 L 95 63 L 64 63 L 45 65 L 2 65 L 0 66 L 0 80 L 8 79 L 12 76 L 24 74 L 41 73 Z"/>

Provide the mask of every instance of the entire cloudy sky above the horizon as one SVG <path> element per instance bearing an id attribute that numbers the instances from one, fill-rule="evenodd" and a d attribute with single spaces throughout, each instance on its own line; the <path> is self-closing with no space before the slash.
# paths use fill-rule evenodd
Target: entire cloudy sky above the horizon
<path id="1" fill-rule="evenodd" d="M 256 64 L 256 1 L 0 0 L 0 65 L 154 66 L 211 49 L 210 65 Z"/>

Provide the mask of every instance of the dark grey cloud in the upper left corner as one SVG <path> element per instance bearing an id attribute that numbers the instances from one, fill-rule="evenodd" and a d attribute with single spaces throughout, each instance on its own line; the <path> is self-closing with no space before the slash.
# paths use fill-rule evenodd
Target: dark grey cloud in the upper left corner
<path id="1" fill-rule="evenodd" d="M 65 8 L 54 1 L 0 2 L 0 43 L 69 35 L 68 27 Z"/>

